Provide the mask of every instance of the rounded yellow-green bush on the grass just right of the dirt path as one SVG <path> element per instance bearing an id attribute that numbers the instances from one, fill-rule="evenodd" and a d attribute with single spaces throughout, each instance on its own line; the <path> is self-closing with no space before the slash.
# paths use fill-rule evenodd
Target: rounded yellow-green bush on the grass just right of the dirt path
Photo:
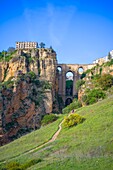
<path id="1" fill-rule="evenodd" d="M 74 113 L 64 119 L 63 126 L 69 128 L 72 126 L 76 126 L 77 124 L 82 123 L 83 121 L 84 118 L 82 116 Z"/>

